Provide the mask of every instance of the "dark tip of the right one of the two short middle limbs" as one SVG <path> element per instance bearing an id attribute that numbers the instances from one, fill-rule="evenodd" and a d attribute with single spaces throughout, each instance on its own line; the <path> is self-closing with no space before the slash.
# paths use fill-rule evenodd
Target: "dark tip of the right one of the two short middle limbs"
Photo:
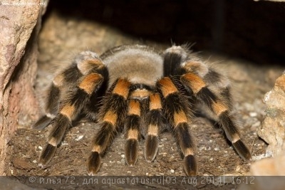
<path id="1" fill-rule="evenodd" d="M 158 138 L 155 135 L 147 135 L 145 140 L 145 159 L 152 162 L 155 159 L 158 149 Z"/>

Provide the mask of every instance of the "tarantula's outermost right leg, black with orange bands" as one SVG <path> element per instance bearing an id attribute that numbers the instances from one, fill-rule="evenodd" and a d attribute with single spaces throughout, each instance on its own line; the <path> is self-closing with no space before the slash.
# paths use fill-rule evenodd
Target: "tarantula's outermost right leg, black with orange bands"
<path id="1" fill-rule="evenodd" d="M 185 63 L 185 67 L 191 68 L 193 63 L 195 62 L 190 60 Z M 203 102 L 214 113 L 215 117 L 217 117 L 217 122 L 222 126 L 227 139 L 232 142 L 239 156 L 244 160 L 250 159 L 249 149 L 242 142 L 236 118 L 232 115 L 232 100 L 229 87 L 227 85 L 217 85 L 219 82 L 224 83 L 224 81 L 219 80 L 222 78 L 222 75 L 215 74 L 215 80 L 213 78 L 212 80 L 204 80 L 199 73 L 193 73 L 190 70 L 190 72 L 181 75 L 180 81 L 188 93 L 192 93 L 199 102 Z M 207 74 L 204 75 L 204 78 L 207 78 Z"/>

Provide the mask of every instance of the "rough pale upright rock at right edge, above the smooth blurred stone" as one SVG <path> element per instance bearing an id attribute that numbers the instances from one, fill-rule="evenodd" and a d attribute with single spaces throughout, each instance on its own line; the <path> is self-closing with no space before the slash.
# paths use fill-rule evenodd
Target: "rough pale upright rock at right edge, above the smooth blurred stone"
<path id="1" fill-rule="evenodd" d="M 285 73 L 276 79 L 274 88 L 264 96 L 266 115 L 258 130 L 272 156 L 285 151 Z M 285 171 L 285 168 L 284 168 Z"/>

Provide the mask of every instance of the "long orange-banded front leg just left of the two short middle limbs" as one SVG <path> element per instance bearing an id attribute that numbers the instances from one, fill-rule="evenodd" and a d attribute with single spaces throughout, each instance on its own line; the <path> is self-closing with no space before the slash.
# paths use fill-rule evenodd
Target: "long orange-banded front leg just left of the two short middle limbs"
<path id="1" fill-rule="evenodd" d="M 89 175 L 94 175 L 100 169 L 101 156 L 113 141 L 115 134 L 123 129 L 130 85 L 131 83 L 126 79 L 116 80 L 103 100 L 98 116 L 100 130 L 95 135 L 92 152 L 87 160 Z"/>

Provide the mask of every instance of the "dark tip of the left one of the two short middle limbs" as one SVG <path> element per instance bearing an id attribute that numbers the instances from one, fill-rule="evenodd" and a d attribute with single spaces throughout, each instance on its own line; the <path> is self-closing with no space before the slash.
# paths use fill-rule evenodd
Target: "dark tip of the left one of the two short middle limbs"
<path id="1" fill-rule="evenodd" d="M 129 166 L 135 165 L 138 159 L 138 140 L 128 139 L 125 143 L 125 162 Z"/>

